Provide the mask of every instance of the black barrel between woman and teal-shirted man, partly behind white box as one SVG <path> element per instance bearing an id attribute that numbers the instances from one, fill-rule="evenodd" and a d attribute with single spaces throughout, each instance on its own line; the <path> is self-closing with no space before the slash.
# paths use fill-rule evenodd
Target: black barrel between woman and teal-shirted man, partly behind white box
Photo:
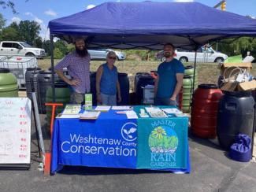
<path id="1" fill-rule="evenodd" d="M 154 85 L 154 77 L 150 73 L 136 73 L 134 79 L 135 86 L 135 102 L 137 105 L 143 104 L 143 88 L 147 85 Z"/>

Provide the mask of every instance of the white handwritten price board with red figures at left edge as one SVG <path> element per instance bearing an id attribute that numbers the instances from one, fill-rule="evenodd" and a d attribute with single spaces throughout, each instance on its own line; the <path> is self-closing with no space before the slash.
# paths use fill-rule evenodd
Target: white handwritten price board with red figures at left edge
<path id="1" fill-rule="evenodd" d="M 0 164 L 30 164 L 31 108 L 28 98 L 0 98 Z"/>

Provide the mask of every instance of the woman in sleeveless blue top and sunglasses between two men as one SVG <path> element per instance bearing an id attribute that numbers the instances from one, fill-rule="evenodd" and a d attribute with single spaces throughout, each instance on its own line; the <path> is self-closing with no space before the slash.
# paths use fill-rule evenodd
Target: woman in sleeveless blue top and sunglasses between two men
<path id="1" fill-rule="evenodd" d="M 117 105 L 117 102 L 121 102 L 118 72 L 117 67 L 114 66 L 116 60 L 116 53 L 109 51 L 109 53 L 106 55 L 106 63 L 98 67 L 96 73 L 98 105 Z"/>

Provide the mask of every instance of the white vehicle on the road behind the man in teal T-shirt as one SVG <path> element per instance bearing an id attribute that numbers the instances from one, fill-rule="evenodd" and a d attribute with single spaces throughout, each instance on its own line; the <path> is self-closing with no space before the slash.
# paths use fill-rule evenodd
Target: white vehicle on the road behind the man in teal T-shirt
<path id="1" fill-rule="evenodd" d="M 164 51 L 159 51 L 156 56 L 157 59 L 161 61 L 165 60 Z M 194 62 L 195 61 L 195 51 L 188 51 L 182 49 L 175 50 L 175 58 L 181 62 Z M 198 62 L 223 62 L 226 60 L 228 56 L 226 54 L 222 54 L 216 50 L 213 50 L 212 47 L 202 46 L 197 50 L 196 61 Z"/>

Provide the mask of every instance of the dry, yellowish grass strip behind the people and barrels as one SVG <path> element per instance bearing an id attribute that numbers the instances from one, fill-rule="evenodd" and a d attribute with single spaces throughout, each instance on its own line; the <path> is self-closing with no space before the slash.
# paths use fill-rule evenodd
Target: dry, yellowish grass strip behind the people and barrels
<path id="1" fill-rule="evenodd" d="M 60 60 L 54 60 L 54 65 L 58 64 Z M 39 67 L 46 70 L 50 68 L 50 59 L 38 60 Z M 104 61 L 91 61 L 91 72 L 95 72 L 99 65 Z M 128 73 L 130 84 L 133 85 L 133 80 L 136 72 L 150 72 L 157 70 L 160 61 L 117 61 L 118 72 Z M 185 63 L 184 65 L 193 65 L 193 63 Z M 201 83 L 217 83 L 219 76 L 219 69 L 216 63 L 198 63 L 196 65 L 198 70 L 198 82 Z M 252 75 L 256 76 L 256 63 L 253 64 Z M 132 87 L 131 87 L 132 88 Z"/>

